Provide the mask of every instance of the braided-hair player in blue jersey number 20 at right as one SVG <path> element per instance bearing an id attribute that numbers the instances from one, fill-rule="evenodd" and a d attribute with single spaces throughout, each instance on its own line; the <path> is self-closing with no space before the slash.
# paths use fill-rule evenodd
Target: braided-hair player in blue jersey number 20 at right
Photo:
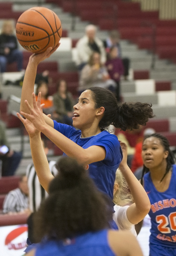
<path id="1" fill-rule="evenodd" d="M 142 158 L 144 168 L 141 183 L 151 202 L 150 256 L 174 256 L 176 165 L 167 138 L 157 133 L 146 136 Z"/>

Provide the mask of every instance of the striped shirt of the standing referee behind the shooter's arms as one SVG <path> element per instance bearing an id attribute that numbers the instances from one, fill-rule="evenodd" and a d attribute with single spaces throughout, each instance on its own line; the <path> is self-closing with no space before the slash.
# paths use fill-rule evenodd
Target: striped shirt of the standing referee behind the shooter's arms
<path id="1" fill-rule="evenodd" d="M 55 161 L 49 161 L 49 169 L 53 176 L 56 176 L 58 173 L 55 163 Z M 27 166 L 26 176 L 29 188 L 29 209 L 31 212 L 34 212 L 38 210 L 41 201 L 47 197 L 48 193 L 41 186 L 33 164 Z"/>

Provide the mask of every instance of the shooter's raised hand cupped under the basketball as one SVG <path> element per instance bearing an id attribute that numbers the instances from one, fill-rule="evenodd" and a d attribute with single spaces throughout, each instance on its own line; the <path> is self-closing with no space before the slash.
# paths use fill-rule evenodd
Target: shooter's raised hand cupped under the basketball
<path id="1" fill-rule="evenodd" d="M 49 58 L 51 56 L 51 54 L 53 54 L 53 52 L 55 52 L 57 50 L 57 48 L 59 47 L 61 43 L 58 43 L 55 48 L 52 48 L 52 47 L 49 47 L 47 48 L 47 50 L 45 52 L 41 52 L 41 53 L 33 53 L 30 57 L 29 57 L 29 60 L 30 61 L 35 61 L 37 63 L 37 65 Z"/>

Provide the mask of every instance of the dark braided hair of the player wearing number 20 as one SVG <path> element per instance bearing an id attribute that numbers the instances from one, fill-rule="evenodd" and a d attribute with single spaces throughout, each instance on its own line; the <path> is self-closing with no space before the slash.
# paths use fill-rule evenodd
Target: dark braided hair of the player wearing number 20
<path id="1" fill-rule="evenodd" d="M 166 174 L 169 172 L 170 168 L 172 167 L 172 164 L 175 163 L 176 158 L 175 158 L 173 152 L 170 150 L 170 145 L 169 145 L 168 139 L 166 137 L 162 136 L 159 133 L 153 133 L 153 134 L 146 135 L 144 137 L 143 141 L 145 141 L 147 138 L 150 138 L 150 137 L 158 138 L 160 140 L 161 145 L 164 147 L 164 151 L 168 151 L 168 157 L 166 158 L 166 162 L 167 162 L 166 172 L 165 172 L 164 176 L 162 177 L 162 179 L 160 180 L 160 182 L 162 182 L 162 180 L 164 179 L 164 177 L 166 176 Z M 141 184 L 143 184 L 143 176 L 147 172 L 149 172 L 149 168 L 147 168 L 145 165 L 143 165 Z"/>

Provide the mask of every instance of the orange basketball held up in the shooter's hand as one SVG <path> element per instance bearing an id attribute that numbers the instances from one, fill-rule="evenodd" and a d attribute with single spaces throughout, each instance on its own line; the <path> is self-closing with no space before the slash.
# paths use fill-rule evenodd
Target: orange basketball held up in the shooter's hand
<path id="1" fill-rule="evenodd" d="M 54 48 L 61 39 L 61 20 L 48 8 L 30 8 L 19 17 L 16 36 L 29 52 L 44 52 L 50 46 Z"/>

